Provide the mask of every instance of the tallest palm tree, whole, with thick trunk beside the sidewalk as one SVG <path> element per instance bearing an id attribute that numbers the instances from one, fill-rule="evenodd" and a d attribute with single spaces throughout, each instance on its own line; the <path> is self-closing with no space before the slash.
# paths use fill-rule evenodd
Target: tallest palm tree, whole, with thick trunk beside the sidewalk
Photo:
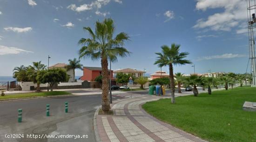
<path id="1" fill-rule="evenodd" d="M 102 101 L 101 109 L 104 112 L 110 110 L 108 101 L 108 59 L 111 62 L 117 61 L 118 57 L 126 57 L 130 52 L 123 47 L 124 42 L 129 40 L 128 34 L 121 32 L 113 38 L 115 32 L 114 21 L 104 19 L 103 22 L 95 23 L 95 32 L 90 27 L 84 27 L 90 35 L 88 39 L 80 39 L 82 45 L 79 51 L 79 58 L 91 58 L 92 60 L 101 59 L 102 68 Z"/>

